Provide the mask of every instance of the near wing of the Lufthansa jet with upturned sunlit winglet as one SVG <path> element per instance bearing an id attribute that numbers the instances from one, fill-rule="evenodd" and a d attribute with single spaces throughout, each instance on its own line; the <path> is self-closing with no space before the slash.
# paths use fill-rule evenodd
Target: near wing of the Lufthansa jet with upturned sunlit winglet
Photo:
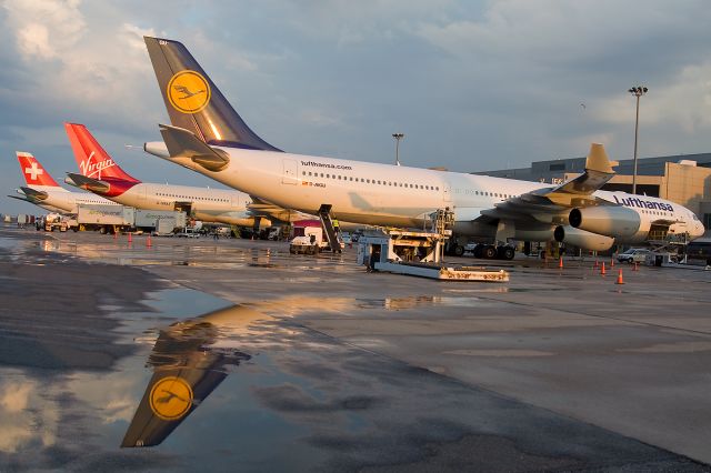
<path id="1" fill-rule="evenodd" d="M 592 195 L 613 175 L 604 147 L 593 143 L 582 174 L 558 187 L 538 189 L 495 203 L 493 209 L 481 210 L 481 217 L 474 220 L 492 223 L 502 219 L 550 223 L 567 217 L 572 208 L 617 205 Z"/>

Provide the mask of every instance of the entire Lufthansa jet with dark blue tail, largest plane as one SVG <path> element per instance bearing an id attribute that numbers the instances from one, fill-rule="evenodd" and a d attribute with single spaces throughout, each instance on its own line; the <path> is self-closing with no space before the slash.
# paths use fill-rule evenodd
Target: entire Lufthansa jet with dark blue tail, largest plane
<path id="1" fill-rule="evenodd" d="M 495 246 L 509 239 L 604 251 L 652 231 L 703 234 L 678 203 L 601 191 L 614 175 L 602 144 L 591 145 L 584 173 L 557 187 L 282 152 L 244 123 L 182 43 L 144 40 L 172 123 L 160 125 L 164 144 L 144 150 L 274 204 L 306 213 L 327 204 L 339 220 L 405 228 L 449 208 L 454 233 L 485 242 L 485 258 L 513 258 L 511 246 Z"/>

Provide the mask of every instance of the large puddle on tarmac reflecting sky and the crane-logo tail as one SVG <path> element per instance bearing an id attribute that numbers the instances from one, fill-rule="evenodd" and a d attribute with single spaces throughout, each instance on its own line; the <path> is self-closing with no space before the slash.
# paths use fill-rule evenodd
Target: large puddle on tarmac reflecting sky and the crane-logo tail
<path id="1" fill-rule="evenodd" d="M 352 305 L 356 300 L 341 302 Z M 131 348 L 110 369 L 0 366 L 0 465 L 232 471 L 226 465 L 239 464 L 240 470 L 298 465 L 312 471 L 333 455 L 349 457 L 339 442 L 378 457 L 379 445 L 394 434 L 389 429 L 427 411 L 418 402 L 440 396 L 417 396 L 422 401 L 414 404 L 399 401 L 411 395 L 409 384 L 420 385 L 427 378 L 405 381 L 410 371 L 404 365 L 389 360 L 381 365 L 371 353 L 270 315 L 288 315 L 299 304 L 317 310 L 323 303 L 314 298 L 234 305 L 183 288 L 150 293 L 141 312 L 119 313 L 121 305 L 107 301 L 102 309 L 120 321 L 112 343 Z M 472 300 L 358 303 L 388 310 L 470 305 Z M 443 389 L 441 381 L 431 386 Z M 379 426 L 383 416 L 392 416 L 389 426 Z M 394 435 L 405 439 L 408 432 Z M 419 447 L 411 450 L 415 452 Z"/>

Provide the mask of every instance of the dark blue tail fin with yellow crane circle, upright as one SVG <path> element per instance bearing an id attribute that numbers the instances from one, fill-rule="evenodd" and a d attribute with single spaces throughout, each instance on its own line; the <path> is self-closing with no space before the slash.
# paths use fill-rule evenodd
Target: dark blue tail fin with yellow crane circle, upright
<path id="1" fill-rule="evenodd" d="M 173 127 L 211 145 L 281 151 L 244 123 L 182 43 L 143 39 Z"/>

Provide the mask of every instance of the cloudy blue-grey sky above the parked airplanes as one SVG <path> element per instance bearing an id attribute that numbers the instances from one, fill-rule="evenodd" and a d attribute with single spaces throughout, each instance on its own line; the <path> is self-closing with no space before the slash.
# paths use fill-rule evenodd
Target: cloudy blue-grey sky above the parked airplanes
<path id="1" fill-rule="evenodd" d="M 182 41 L 237 111 L 290 152 L 452 171 L 584 155 L 711 152 L 711 8 L 703 0 L 0 0 L 0 183 L 16 150 L 76 171 L 84 123 L 147 182 L 208 179 L 124 144 L 168 115 L 143 34 Z M 219 187 L 219 185 L 216 185 Z M 0 212 L 33 205 L 2 198 Z"/>

